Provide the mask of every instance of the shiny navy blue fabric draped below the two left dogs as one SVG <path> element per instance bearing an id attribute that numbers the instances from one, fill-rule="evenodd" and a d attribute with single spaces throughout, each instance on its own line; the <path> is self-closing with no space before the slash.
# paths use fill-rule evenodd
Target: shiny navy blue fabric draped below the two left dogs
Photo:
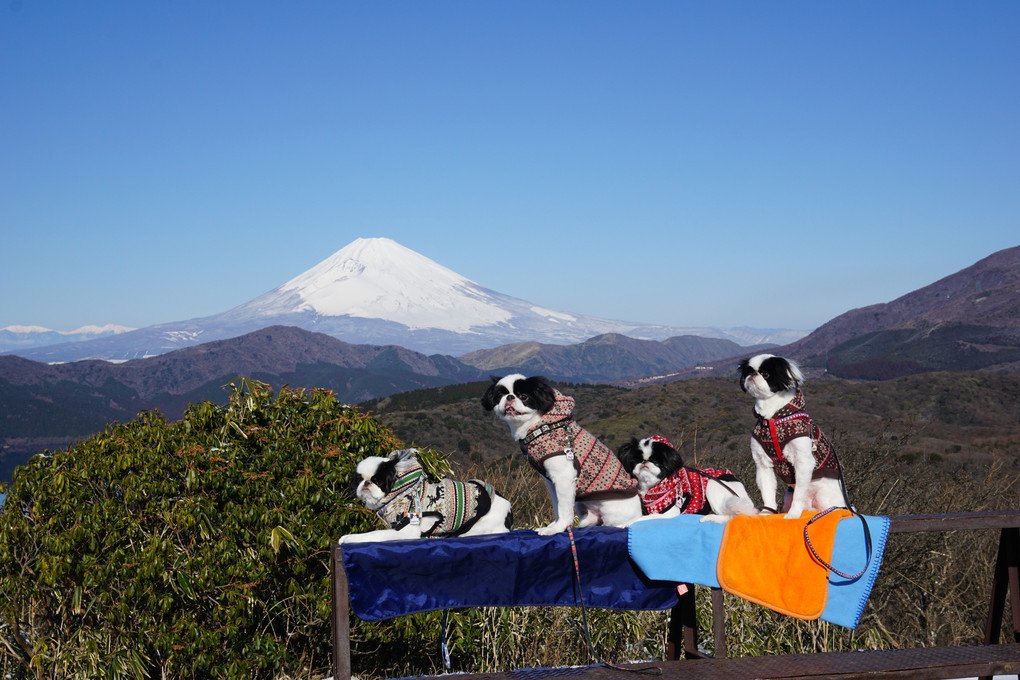
<path id="1" fill-rule="evenodd" d="M 664 610 L 676 585 L 631 562 L 627 531 L 574 529 L 584 606 Z M 351 611 L 364 621 L 461 607 L 577 607 L 570 537 L 517 530 L 490 536 L 345 543 Z"/>

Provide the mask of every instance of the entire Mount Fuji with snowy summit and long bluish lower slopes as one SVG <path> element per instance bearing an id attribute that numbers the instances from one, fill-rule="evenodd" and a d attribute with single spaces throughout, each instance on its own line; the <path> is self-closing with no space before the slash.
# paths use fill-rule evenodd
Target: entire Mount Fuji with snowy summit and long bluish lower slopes
<path id="1" fill-rule="evenodd" d="M 454 356 L 523 341 L 569 345 L 603 333 L 762 342 L 762 331 L 752 329 L 645 325 L 546 309 L 482 287 L 390 239 L 358 239 L 279 287 L 221 314 L 15 353 L 49 363 L 139 359 L 272 325 L 297 326 L 349 344 L 397 345 Z M 793 332 L 771 342 L 804 335 Z"/>

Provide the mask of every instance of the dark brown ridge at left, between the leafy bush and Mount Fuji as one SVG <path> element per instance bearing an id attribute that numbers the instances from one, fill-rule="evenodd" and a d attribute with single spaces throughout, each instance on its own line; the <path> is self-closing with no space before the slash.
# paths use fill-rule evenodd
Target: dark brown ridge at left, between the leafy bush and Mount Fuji
<path id="1" fill-rule="evenodd" d="M 353 403 L 486 374 L 453 357 L 348 345 L 289 326 L 123 363 L 49 365 L 0 356 L 0 480 L 39 451 L 63 448 L 140 411 L 159 410 L 175 420 L 190 403 L 221 403 L 223 385 L 239 376 L 274 388 L 332 389 Z"/>

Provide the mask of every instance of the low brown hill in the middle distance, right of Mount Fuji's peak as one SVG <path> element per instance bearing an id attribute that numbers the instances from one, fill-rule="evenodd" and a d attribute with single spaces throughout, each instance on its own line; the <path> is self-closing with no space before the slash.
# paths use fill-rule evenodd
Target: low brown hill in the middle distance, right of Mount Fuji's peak
<path id="1" fill-rule="evenodd" d="M 742 351 L 764 351 L 770 347 L 774 346 L 744 348 L 727 339 L 700 335 L 679 335 L 658 342 L 606 333 L 577 345 L 516 343 L 472 352 L 459 359 L 495 375 L 519 372 L 545 375 L 554 380 L 604 382 L 669 374 Z"/>

